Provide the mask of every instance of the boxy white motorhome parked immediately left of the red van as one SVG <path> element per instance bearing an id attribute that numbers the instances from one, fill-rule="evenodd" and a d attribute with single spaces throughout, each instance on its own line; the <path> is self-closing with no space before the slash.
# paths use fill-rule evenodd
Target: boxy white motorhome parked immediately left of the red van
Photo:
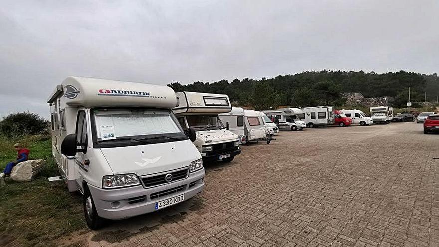
<path id="1" fill-rule="evenodd" d="M 333 108 L 331 106 L 315 106 L 292 108 L 300 119 L 305 120 L 309 128 L 331 125 L 334 123 Z"/>

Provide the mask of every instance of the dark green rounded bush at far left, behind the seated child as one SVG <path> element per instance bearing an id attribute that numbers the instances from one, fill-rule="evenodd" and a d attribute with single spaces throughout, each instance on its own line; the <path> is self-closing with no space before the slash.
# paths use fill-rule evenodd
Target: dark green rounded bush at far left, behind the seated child
<path id="1" fill-rule="evenodd" d="M 44 134 L 48 128 L 49 121 L 31 112 L 9 114 L 0 124 L 1 133 L 8 138 Z"/>

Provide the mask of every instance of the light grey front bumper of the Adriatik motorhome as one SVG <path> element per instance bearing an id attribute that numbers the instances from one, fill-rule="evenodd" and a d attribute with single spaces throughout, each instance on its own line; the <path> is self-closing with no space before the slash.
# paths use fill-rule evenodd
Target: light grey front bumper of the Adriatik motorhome
<path id="1" fill-rule="evenodd" d="M 121 189 L 102 189 L 88 185 L 93 197 L 97 213 L 100 217 L 111 220 L 120 220 L 137 215 L 156 211 L 156 202 L 166 200 L 178 195 L 185 194 L 184 201 L 203 191 L 204 169 L 189 174 L 186 179 L 174 183 L 164 184 L 152 188 L 144 188 L 142 185 Z M 191 185 L 191 187 L 189 187 Z M 181 191 L 172 193 L 175 188 L 184 188 Z M 151 199 L 151 194 L 170 191 L 166 196 Z M 163 193 L 161 193 L 163 194 Z M 142 201 L 142 199 L 144 200 Z M 117 207 L 113 207 L 117 205 Z M 133 203 L 134 202 L 134 203 Z"/>

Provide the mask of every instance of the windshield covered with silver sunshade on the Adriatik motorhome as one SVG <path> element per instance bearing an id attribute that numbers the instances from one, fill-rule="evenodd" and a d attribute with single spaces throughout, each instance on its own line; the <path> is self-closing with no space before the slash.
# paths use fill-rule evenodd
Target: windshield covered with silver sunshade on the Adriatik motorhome
<path id="1" fill-rule="evenodd" d="M 168 110 L 94 109 L 92 120 L 93 140 L 98 146 L 142 145 L 187 139 L 174 114 Z"/>

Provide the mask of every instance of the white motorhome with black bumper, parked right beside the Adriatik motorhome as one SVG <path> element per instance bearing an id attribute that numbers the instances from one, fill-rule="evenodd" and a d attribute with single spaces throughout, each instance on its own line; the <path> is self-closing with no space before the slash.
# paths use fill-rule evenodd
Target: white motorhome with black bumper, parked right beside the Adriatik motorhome
<path id="1" fill-rule="evenodd" d="M 218 117 L 232 107 L 225 94 L 178 92 L 173 109 L 184 131 L 194 131 L 195 146 L 204 161 L 230 162 L 241 153 L 238 135 L 228 131 Z"/>

